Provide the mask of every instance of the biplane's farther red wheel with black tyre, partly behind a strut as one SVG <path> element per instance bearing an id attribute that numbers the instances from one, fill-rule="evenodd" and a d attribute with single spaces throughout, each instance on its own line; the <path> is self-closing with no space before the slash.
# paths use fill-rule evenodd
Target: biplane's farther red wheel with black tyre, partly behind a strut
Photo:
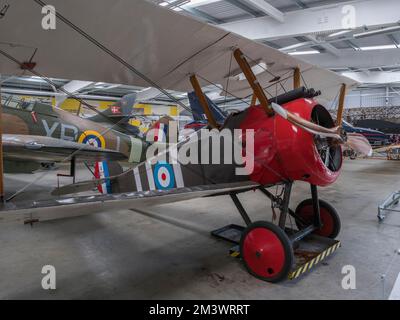
<path id="1" fill-rule="evenodd" d="M 319 236 L 335 239 L 340 232 L 340 217 L 334 207 L 324 200 L 319 200 L 322 228 L 314 231 Z M 299 230 L 304 229 L 313 223 L 314 208 L 312 199 L 306 199 L 297 206 L 295 214 L 300 216 L 305 223 L 296 219 Z"/>

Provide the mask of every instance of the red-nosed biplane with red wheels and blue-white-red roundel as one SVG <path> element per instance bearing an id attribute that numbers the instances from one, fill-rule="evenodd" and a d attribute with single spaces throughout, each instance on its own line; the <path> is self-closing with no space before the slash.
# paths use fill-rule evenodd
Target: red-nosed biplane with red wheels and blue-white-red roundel
<path id="1" fill-rule="evenodd" d="M 103 172 L 100 179 L 57 188 L 53 195 L 59 198 L 5 203 L 3 217 L 27 213 L 32 218 L 63 206 L 129 208 L 229 195 L 246 225 L 240 256 L 252 275 L 270 282 L 296 277 L 339 246 L 331 243 L 293 274 L 294 251 L 301 240 L 312 235 L 334 239 L 339 233 L 339 216 L 319 199 L 318 187 L 339 177 L 342 146 L 370 152 L 368 143 L 341 128 L 345 92 L 356 85 L 353 80 L 147 1 L 55 0 L 54 30 L 43 30 L 39 23 L 45 5 L 40 0 L 17 0 L 0 20 L 2 73 L 24 70 L 46 78 L 152 86 L 172 99 L 165 89 L 194 90 L 207 126 L 178 143 L 167 141 L 163 151 L 132 169 L 114 170 L 113 175 Z M 90 19 L 104 14 L 107 20 Z M 255 68 L 259 65 L 264 66 L 261 72 Z M 237 99 L 251 98 L 249 106 L 216 121 L 202 91 L 212 84 Z M 336 122 L 323 106 L 335 96 Z M 193 152 L 202 158 L 215 146 L 212 139 L 227 132 L 239 132 L 241 143 L 224 140 L 216 152 L 225 159 L 232 149 L 239 150 L 241 161 L 183 163 L 176 157 Z M 291 210 L 296 181 L 310 185 L 311 197 Z M 108 187 L 102 195 L 79 195 L 104 183 Z M 281 195 L 268 191 L 276 185 L 283 187 Z M 271 200 L 280 212 L 278 224 L 251 220 L 237 197 L 248 190 L 260 190 Z M 289 216 L 294 217 L 296 230 L 288 230 Z"/>

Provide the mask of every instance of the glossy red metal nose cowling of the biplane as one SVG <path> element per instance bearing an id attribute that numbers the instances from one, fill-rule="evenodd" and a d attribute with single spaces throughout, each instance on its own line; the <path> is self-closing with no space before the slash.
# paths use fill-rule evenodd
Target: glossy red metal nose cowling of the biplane
<path id="1" fill-rule="evenodd" d="M 318 103 L 314 99 L 297 99 L 283 107 L 294 114 L 311 120 Z M 251 180 L 262 185 L 284 180 L 300 180 L 317 186 L 336 181 L 337 171 L 322 162 L 311 133 L 296 127 L 279 115 L 268 117 L 261 106 L 251 106 L 241 123 L 241 129 L 254 129 L 254 170 Z M 247 156 L 247 155 L 246 155 Z"/>

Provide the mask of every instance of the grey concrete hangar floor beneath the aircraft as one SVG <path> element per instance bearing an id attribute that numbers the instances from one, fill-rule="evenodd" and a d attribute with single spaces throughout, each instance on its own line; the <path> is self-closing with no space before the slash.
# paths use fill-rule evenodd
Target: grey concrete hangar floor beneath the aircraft
<path id="1" fill-rule="evenodd" d="M 227 197 L 196 199 L 139 212 L 115 210 L 35 224 L 0 224 L 1 299 L 382 299 L 400 272 L 400 214 L 379 224 L 377 206 L 400 189 L 400 162 L 346 161 L 338 182 L 320 189 L 342 219 L 342 248 L 305 276 L 270 284 L 250 276 L 230 245 L 209 232 L 242 224 Z M 36 175 L 7 176 L 12 189 Z M 46 197 L 46 176 L 23 197 Z M 294 187 L 291 206 L 309 197 Z M 258 192 L 240 195 L 253 220 L 271 220 Z M 57 289 L 41 288 L 41 269 L 57 270 Z M 355 290 L 341 287 L 344 265 L 356 268 Z M 380 275 L 386 273 L 383 296 Z"/>

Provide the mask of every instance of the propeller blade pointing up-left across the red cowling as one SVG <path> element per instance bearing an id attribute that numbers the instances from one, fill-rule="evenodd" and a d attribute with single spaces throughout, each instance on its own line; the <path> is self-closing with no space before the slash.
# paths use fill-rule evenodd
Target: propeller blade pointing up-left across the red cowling
<path id="1" fill-rule="evenodd" d="M 335 128 L 325 128 L 322 127 L 318 124 L 315 124 L 311 121 L 308 121 L 306 119 L 303 119 L 302 117 L 299 117 L 290 111 L 287 111 L 284 109 L 282 106 L 279 104 L 276 104 L 274 102 L 271 103 L 272 109 L 279 114 L 282 118 L 288 120 L 289 122 L 293 123 L 295 126 L 298 126 L 312 134 L 320 135 L 323 137 L 329 137 L 329 138 L 334 138 L 339 141 L 343 141 L 342 137 L 339 134 L 339 127 Z"/>

